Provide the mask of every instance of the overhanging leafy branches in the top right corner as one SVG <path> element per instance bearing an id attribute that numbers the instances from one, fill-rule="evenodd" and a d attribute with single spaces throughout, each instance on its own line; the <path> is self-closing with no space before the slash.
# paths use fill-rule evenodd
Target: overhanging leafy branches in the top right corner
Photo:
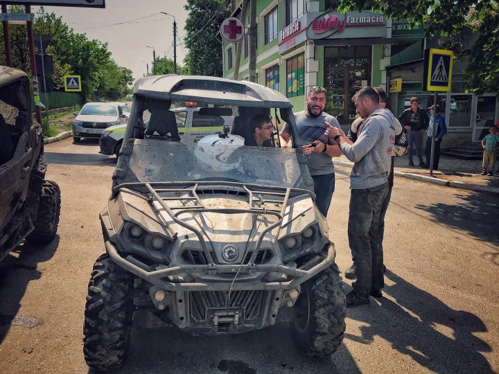
<path id="1" fill-rule="evenodd" d="M 338 10 L 372 9 L 390 18 L 423 24 L 428 37 L 438 37 L 469 65 L 465 71 L 469 91 L 499 92 L 499 3 L 496 0 L 335 0 Z M 478 38 L 473 45 L 464 38 L 470 27 Z"/>

